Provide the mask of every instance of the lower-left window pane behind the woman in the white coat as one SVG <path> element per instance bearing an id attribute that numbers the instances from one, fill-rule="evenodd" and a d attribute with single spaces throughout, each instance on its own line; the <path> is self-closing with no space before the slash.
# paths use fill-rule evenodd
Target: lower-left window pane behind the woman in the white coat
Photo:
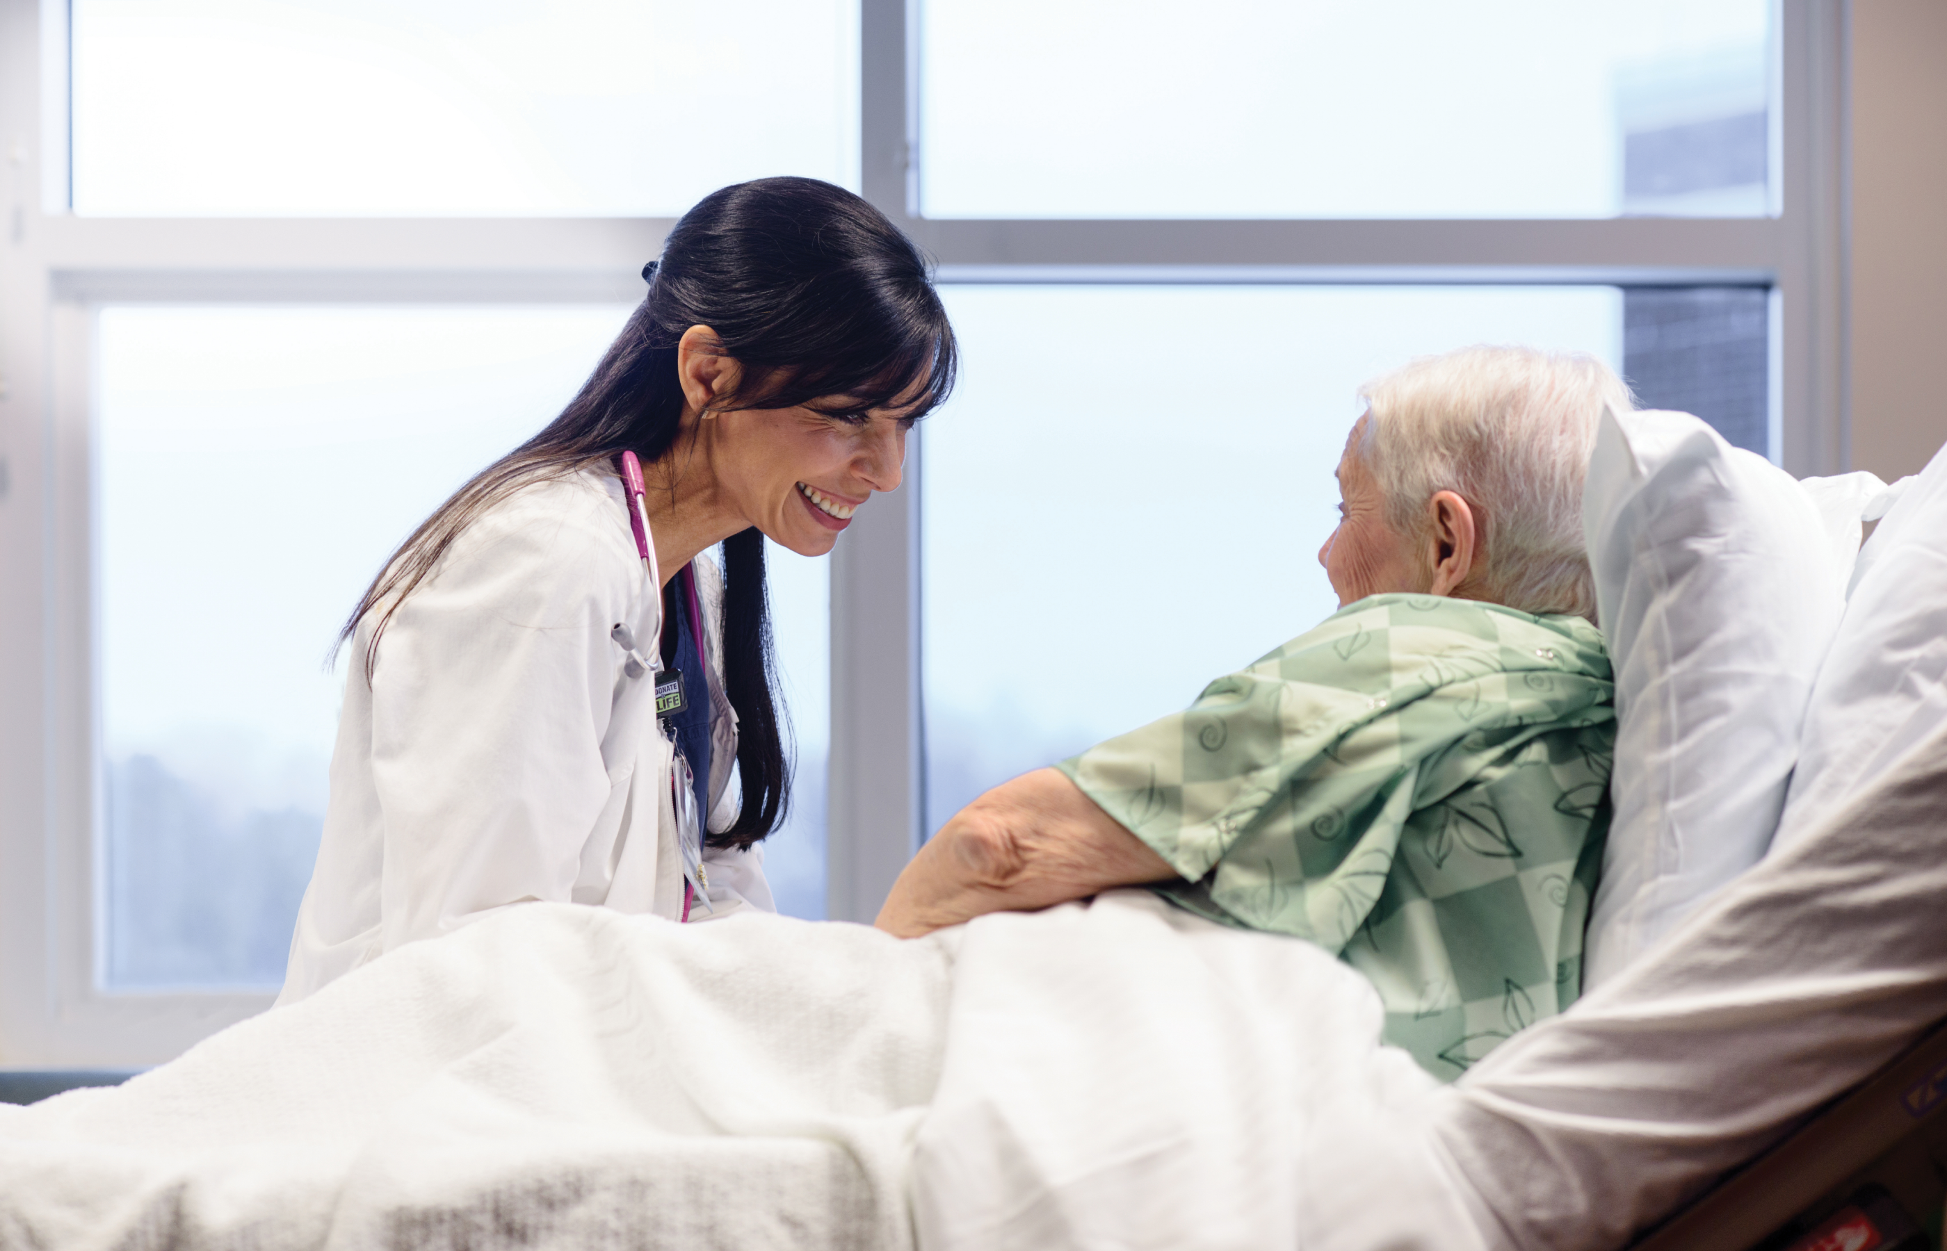
<path id="1" fill-rule="evenodd" d="M 282 981 L 323 819 L 339 623 L 440 500 L 561 411 L 627 313 L 101 313 L 107 984 Z M 822 780 L 824 574 L 794 560 L 775 562 L 779 656 Z M 810 864 L 781 856 L 794 881 L 822 874 L 822 804 L 806 811 L 781 835 Z"/>

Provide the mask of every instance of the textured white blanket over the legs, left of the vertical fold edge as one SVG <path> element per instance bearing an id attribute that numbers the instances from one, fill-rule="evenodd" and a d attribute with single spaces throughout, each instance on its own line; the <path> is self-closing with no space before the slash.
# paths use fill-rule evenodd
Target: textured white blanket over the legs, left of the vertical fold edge
<path id="1" fill-rule="evenodd" d="M 946 949 L 530 905 L 0 1109 L 0 1247 L 907 1247 Z"/>

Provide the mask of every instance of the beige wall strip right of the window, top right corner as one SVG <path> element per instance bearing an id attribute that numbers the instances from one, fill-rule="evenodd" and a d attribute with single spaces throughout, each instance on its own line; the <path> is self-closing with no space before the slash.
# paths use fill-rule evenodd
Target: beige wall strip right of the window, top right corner
<path id="1" fill-rule="evenodd" d="M 1947 442 L 1947 0 L 1852 6 L 1852 467 Z"/>

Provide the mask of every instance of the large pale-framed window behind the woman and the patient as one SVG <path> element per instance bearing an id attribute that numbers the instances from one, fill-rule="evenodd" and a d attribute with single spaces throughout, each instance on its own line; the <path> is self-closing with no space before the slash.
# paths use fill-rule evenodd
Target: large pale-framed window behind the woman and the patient
<path id="1" fill-rule="evenodd" d="M 1836 0 L 8 14 L 0 1064 L 154 1062 L 269 1002 L 335 626 L 730 181 L 857 187 L 968 346 L 907 486 L 829 560 L 769 553 L 800 914 L 868 920 L 977 788 L 1328 611 L 1353 389 L 1414 352 L 1581 346 L 1844 465 Z"/>

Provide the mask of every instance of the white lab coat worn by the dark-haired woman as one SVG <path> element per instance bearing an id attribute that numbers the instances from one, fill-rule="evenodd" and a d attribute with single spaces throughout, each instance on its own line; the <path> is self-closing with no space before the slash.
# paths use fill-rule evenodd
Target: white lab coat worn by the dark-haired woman
<path id="1" fill-rule="evenodd" d="M 722 693 L 722 578 L 697 558 L 711 698 L 711 829 L 728 792 L 736 714 Z M 317 868 L 298 909 L 278 1004 L 393 947 L 526 901 L 678 918 L 683 907 L 674 747 L 654 685 L 609 638 L 654 646 L 660 597 L 621 483 L 580 471 L 475 518 L 364 656 L 352 638 Z M 711 912 L 775 911 L 763 852 L 705 852 Z"/>

